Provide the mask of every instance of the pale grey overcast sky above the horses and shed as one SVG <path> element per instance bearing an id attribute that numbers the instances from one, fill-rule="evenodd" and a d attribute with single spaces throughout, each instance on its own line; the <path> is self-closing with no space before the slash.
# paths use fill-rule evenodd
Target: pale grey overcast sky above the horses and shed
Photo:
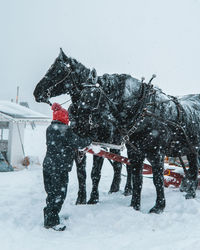
<path id="1" fill-rule="evenodd" d="M 200 93 L 200 0 L 0 0 L 0 99 L 41 112 L 33 90 L 62 47 L 87 67 Z M 55 101 L 68 99 L 67 96 Z"/>

